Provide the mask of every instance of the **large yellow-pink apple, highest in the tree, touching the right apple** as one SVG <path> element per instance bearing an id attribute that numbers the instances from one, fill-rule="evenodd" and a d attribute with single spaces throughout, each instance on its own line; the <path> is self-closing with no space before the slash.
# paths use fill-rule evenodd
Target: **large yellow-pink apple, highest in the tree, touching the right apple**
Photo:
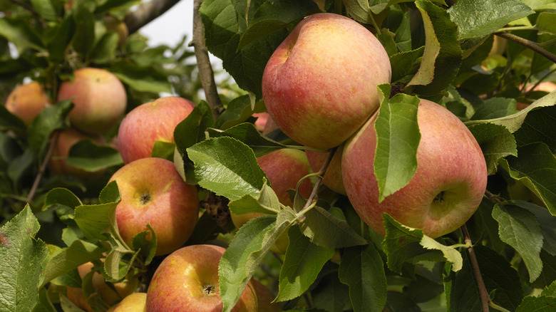
<path id="1" fill-rule="evenodd" d="M 388 54 L 373 33 L 345 16 L 318 13 L 269 58 L 262 96 L 286 135 L 327 150 L 365 123 L 379 107 L 376 85 L 390 80 Z"/>

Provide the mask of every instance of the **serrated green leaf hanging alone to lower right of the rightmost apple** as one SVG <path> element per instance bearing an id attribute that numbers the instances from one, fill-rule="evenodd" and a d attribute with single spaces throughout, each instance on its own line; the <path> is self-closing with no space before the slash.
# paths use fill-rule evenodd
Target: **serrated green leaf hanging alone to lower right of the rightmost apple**
<path id="1" fill-rule="evenodd" d="M 542 272 L 542 229 L 537 218 L 531 212 L 509 204 L 496 204 L 493 218 L 498 221 L 500 239 L 519 252 L 529 271 L 530 281 L 535 281 Z"/>

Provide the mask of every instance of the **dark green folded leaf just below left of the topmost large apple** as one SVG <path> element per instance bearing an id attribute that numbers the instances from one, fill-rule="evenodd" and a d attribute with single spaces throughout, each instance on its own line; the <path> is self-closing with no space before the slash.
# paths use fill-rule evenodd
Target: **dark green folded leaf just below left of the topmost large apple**
<path id="1" fill-rule="evenodd" d="M 240 123 L 225 131 L 209 128 L 210 137 L 233 137 L 251 147 L 255 156 L 260 157 L 274 150 L 286 147 L 274 140 L 270 140 L 257 131 L 252 123 Z"/>

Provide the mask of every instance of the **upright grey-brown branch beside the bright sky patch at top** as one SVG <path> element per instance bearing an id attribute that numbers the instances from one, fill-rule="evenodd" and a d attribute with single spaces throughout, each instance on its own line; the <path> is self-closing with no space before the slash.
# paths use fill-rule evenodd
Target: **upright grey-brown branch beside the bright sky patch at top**
<path id="1" fill-rule="evenodd" d="M 216 88 L 215 75 L 210 65 L 210 59 L 205 46 L 205 26 L 202 24 L 199 8 L 202 0 L 195 0 L 193 3 L 193 39 L 190 46 L 195 48 L 195 58 L 197 58 L 197 68 L 199 69 L 199 78 L 201 80 L 202 89 L 205 90 L 205 98 L 212 110 L 212 117 L 215 120 L 220 116 L 224 105 L 218 96 Z"/>

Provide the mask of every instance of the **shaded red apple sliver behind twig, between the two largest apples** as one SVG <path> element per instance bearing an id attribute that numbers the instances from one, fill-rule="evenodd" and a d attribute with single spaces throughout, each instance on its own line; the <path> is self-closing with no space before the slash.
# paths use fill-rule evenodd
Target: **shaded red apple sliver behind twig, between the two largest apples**
<path id="1" fill-rule="evenodd" d="M 326 168 L 322 183 L 326 185 L 329 189 L 333 190 L 339 194 L 346 194 L 346 188 L 344 187 L 344 180 L 341 177 L 341 153 L 344 150 L 344 145 L 340 145 L 334 156 Z M 314 172 L 321 170 L 322 165 L 326 162 L 326 158 L 329 152 L 316 152 L 314 150 L 306 150 L 307 159 L 309 159 L 309 164 Z"/>

